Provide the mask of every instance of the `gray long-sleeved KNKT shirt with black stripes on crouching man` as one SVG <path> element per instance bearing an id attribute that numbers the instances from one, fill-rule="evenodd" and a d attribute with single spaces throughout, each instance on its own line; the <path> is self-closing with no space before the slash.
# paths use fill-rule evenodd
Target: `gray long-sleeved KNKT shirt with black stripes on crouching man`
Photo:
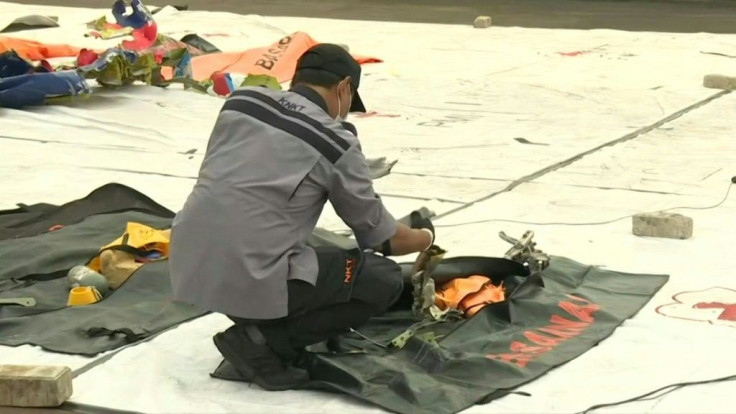
<path id="1" fill-rule="evenodd" d="M 175 297 L 241 318 L 286 316 L 287 280 L 316 282 L 317 257 L 306 241 L 327 200 L 362 248 L 396 232 L 357 137 L 330 118 L 317 92 L 234 92 L 174 219 Z"/>

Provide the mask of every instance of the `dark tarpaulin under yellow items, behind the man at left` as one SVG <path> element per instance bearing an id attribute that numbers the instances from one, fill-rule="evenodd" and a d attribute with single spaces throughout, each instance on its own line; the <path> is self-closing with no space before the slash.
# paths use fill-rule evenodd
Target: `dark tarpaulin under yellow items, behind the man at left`
<path id="1" fill-rule="evenodd" d="M 66 306 L 71 267 L 118 238 L 129 221 L 168 228 L 172 216 L 117 184 L 63 206 L 36 204 L 0 212 L 0 298 L 32 297 L 37 303 L 0 305 L 0 344 L 95 355 L 203 315 L 172 300 L 167 261 L 140 267 L 98 303 Z"/>

